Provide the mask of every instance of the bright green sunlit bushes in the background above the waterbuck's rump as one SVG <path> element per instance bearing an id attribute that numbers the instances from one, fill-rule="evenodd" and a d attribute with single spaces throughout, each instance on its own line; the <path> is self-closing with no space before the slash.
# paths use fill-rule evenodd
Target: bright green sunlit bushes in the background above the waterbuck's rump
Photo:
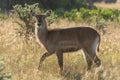
<path id="1" fill-rule="evenodd" d="M 105 20 L 118 20 L 118 16 L 120 16 L 120 11 L 116 9 L 85 9 L 81 8 L 79 11 L 77 9 L 73 9 L 71 11 L 66 11 L 64 14 L 65 18 L 76 20 L 76 17 L 80 17 L 83 20 L 89 20 L 93 16 L 101 17 Z M 78 19 L 77 19 L 78 20 Z M 80 19 L 81 20 L 81 19 Z"/>

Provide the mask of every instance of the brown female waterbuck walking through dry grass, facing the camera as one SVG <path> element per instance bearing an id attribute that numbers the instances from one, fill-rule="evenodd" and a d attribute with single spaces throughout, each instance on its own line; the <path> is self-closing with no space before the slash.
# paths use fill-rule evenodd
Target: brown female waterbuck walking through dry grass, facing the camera
<path id="1" fill-rule="evenodd" d="M 51 11 L 46 14 L 36 14 L 32 11 L 32 15 L 36 17 L 35 36 L 38 43 L 42 43 L 47 50 L 40 59 L 39 68 L 46 57 L 56 53 L 60 71 L 62 71 L 63 53 L 80 49 L 84 52 L 87 70 L 91 69 L 93 62 L 100 66 L 101 61 L 96 55 L 96 50 L 99 50 L 100 44 L 100 35 L 97 31 L 89 27 L 48 30 L 45 18 L 50 14 Z"/>

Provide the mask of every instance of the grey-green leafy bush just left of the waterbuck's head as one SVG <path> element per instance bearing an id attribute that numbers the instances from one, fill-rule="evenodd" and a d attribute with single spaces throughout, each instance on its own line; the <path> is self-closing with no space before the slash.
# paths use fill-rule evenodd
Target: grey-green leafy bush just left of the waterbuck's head
<path id="1" fill-rule="evenodd" d="M 26 39 L 29 39 L 30 35 L 34 32 L 34 20 L 31 15 L 31 10 L 39 11 L 38 4 L 28 5 L 15 5 L 14 10 L 16 15 L 19 17 L 20 20 L 24 22 L 21 23 L 16 21 L 17 24 L 20 25 L 20 29 L 17 30 L 20 36 L 24 36 Z"/>

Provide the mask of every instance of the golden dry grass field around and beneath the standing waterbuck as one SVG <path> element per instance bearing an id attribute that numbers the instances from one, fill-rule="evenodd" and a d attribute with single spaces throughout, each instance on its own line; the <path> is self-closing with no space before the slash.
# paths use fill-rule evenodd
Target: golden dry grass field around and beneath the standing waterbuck
<path id="1" fill-rule="evenodd" d="M 63 28 L 68 26 L 85 25 L 61 20 L 53 23 L 50 28 Z M 59 67 L 55 55 L 47 58 L 41 70 L 38 71 L 39 58 L 45 51 L 34 39 L 29 44 L 23 43 L 16 37 L 14 28 L 18 27 L 14 20 L 9 18 L 0 21 L 0 57 L 5 62 L 5 72 L 12 74 L 12 80 L 120 80 L 120 29 L 119 26 L 107 28 L 107 33 L 102 36 L 100 54 L 102 65 L 93 66 L 86 71 L 86 63 L 81 55 L 64 54 L 64 74 L 59 75 Z"/>

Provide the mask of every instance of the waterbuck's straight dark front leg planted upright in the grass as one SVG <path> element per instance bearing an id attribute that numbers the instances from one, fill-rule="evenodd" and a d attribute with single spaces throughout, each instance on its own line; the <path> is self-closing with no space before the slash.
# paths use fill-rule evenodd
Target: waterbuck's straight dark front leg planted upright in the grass
<path id="1" fill-rule="evenodd" d="M 58 52 L 56 52 L 56 55 L 57 55 L 57 58 L 58 58 L 58 64 L 59 64 L 59 67 L 60 67 L 60 74 L 61 74 L 62 71 L 63 71 L 63 52 L 58 51 Z"/>

